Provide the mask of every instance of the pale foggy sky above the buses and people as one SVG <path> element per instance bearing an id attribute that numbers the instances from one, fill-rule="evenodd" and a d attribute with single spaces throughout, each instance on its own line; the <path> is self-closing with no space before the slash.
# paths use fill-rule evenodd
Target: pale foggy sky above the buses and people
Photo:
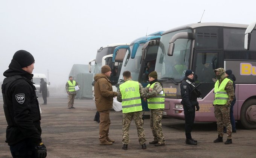
<path id="1" fill-rule="evenodd" d="M 33 73 L 49 72 L 51 87 L 64 88 L 72 65 L 88 64 L 102 46 L 197 23 L 204 10 L 201 22 L 250 24 L 256 20 L 255 4 L 250 0 L 0 0 L 0 82 L 17 50 L 34 56 Z"/>

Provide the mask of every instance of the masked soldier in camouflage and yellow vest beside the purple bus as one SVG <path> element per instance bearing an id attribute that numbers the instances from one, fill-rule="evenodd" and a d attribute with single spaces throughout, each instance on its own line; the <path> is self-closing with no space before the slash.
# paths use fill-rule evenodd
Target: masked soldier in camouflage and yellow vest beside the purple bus
<path id="1" fill-rule="evenodd" d="M 213 101 L 214 113 L 217 120 L 218 138 L 214 143 L 223 142 L 223 127 L 227 129 L 227 141 L 225 144 L 232 143 L 232 126 L 230 123 L 230 103 L 234 99 L 234 87 L 230 79 L 225 77 L 224 68 L 214 70 L 215 76 L 218 79 L 215 83 Z"/>

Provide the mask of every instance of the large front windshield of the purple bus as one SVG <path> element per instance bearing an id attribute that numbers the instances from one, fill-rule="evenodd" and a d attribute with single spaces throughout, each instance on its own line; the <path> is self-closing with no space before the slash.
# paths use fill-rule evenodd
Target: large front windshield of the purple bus
<path id="1" fill-rule="evenodd" d="M 172 36 L 179 32 L 192 32 L 191 29 L 178 30 L 175 32 L 166 33 L 161 36 L 155 71 L 158 73 L 158 79 L 172 78 L 179 82 L 184 77 L 184 72 L 188 68 L 190 57 L 190 39 L 178 39 L 174 42 L 175 48 L 173 56 L 168 56 L 169 41 Z"/>

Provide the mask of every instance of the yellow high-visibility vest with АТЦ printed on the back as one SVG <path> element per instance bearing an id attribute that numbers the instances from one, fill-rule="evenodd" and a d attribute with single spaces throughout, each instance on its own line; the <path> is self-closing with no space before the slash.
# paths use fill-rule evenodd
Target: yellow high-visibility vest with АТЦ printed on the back
<path id="1" fill-rule="evenodd" d="M 128 80 L 120 84 L 123 113 L 142 111 L 139 82 Z"/>

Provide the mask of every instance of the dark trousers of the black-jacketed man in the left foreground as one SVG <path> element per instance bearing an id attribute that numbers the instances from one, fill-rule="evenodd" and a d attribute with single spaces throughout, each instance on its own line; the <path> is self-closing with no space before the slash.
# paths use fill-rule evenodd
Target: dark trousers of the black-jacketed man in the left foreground
<path id="1" fill-rule="evenodd" d="M 37 158 L 35 146 L 24 139 L 17 144 L 11 145 L 10 150 L 13 158 Z"/>

